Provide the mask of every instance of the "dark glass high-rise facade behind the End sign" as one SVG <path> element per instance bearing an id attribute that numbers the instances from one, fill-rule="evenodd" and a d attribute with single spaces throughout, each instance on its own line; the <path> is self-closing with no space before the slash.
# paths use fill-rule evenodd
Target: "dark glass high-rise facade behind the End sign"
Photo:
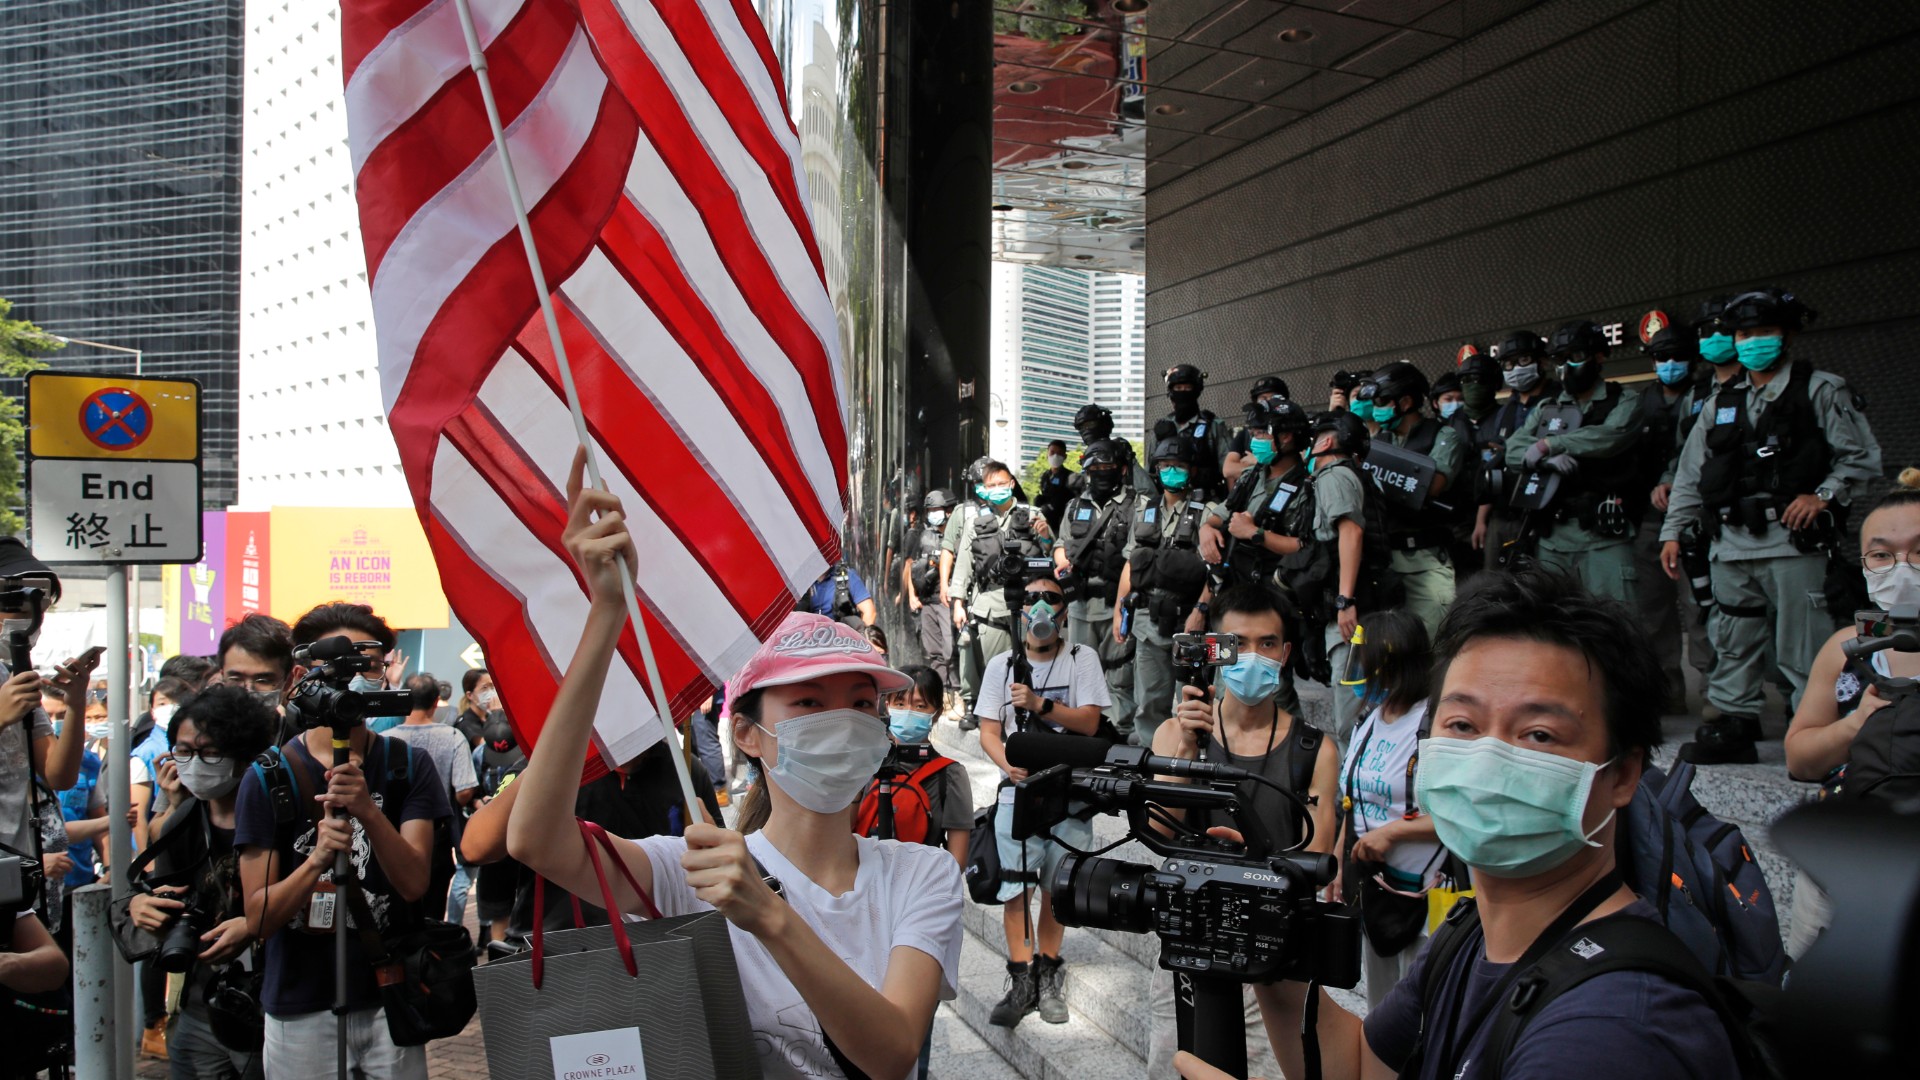
<path id="1" fill-rule="evenodd" d="M 200 380 L 207 507 L 236 494 L 240 42 L 242 0 L 0 4 L 0 296 Z M 50 365 L 132 357 L 75 344 Z"/>

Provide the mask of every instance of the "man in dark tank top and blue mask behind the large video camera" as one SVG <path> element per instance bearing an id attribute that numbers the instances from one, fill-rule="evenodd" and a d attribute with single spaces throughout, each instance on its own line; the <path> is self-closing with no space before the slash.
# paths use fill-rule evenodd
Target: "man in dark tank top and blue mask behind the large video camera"
<path id="1" fill-rule="evenodd" d="M 1277 788 L 1311 803 L 1313 815 L 1313 821 L 1306 822 L 1300 803 L 1263 784 L 1242 784 L 1242 799 L 1265 828 L 1271 844 L 1292 847 L 1311 824 L 1313 842 L 1304 849 L 1332 851 L 1338 749 L 1331 738 L 1296 719 L 1279 701 L 1281 671 L 1294 648 L 1292 626 L 1292 605 L 1265 584 L 1238 584 L 1219 594 L 1213 600 L 1212 628 L 1223 638 L 1236 638 L 1238 655 L 1225 667 L 1196 669 L 1198 684 L 1181 688 L 1179 709 L 1171 723 L 1160 724 L 1152 749 L 1160 757 L 1181 761 L 1204 755 L 1206 761 L 1265 776 Z M 1208 676 L 1212 686 L 1204 684 Z M 1158 778 L 1175 784 L 1192 782 L 1187 776 Z M 1175 821 L 1188 821 L 1202 832 L 1233 824 L 1231 817 L 1204 809 L 1167 809 L 1167 815 Z M 1300 997 L 1304 986 L 1283 984 L 1277 994 Z M 1154 972 L 1154 1022 L 1146 1051 L 1146 1074 L 1154 1078 L 1173 1074 L 1173 1051 L 1177 1049 L 1173 1003 L 1173 972 Z M 1261 1049 L 1265 1042 L 1258 1036 L 1263 1026 L 1252 988 L 1244 990 L 1242 1003 L 1246 1030 L 1256 1036 L 1254 1049 Z M 1271 1059 L 1260 1055 L 1254 1057 L 1252 1065 L 1273 1068 Z"/>

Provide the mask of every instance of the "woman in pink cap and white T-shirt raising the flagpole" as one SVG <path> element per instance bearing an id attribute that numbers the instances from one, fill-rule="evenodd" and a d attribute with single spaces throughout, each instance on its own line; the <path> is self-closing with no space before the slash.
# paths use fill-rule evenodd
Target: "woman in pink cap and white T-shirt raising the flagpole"
<path id="1" fill-rule="evenodd" d="M 518 780 L 507 847 L 570 892 L 597 896 L 574 830 L 574 788 L 628 619 L 620 575 L 632 575 L 637 559 L 620 500 L 586 488 L 582 469 L 576 459 L 563 540 L 591 611 Z M 728 694 L 733 740 L 762 765 L 764 828 L 743 836 L 701 822 L 685 836 L 616 840 L 664 915 L 718 909 L 728 919 L 768 1080 L 908 1076 L 937 1001 L 954 995 L 962 911 L 954 859 L 847 828 L 849 807 L 891 742 L 885 696 L 910 684 L 858 632 L 816 615 L 787 617 Z M 760 817 L 753 809 L 743 821 Z M 643 909 L 620 874 L 609 878 L 624 911 Z"/>

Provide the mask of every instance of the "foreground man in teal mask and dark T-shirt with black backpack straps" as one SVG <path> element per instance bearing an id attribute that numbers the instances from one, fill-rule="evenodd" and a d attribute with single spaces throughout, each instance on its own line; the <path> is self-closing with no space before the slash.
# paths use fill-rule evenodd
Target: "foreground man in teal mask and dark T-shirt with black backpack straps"
<path id="1" fill-rule="evenodd" d="M 1417 796 L 1473 869 L 1476 897 L 1453 907 L 1365 1024 L 1317 1001 L 1323 1074 L 1738 1076 L 1711 976 L 1684 972 L 1688 945 L 1615 863 L 1615 819 L 1659 744 L 1665 698 L 1630 611 L 1559 575 L 1488 575 L 1448 611 L 1436 657 Z M 1555 984 L 1515 997 L 1523 978 Z M 1269 1024 L 1288 1076 L 1306 1074 L 1300 1019 Z M 1192 1057 L 1179 1067 L 1223 1076 Z"/>

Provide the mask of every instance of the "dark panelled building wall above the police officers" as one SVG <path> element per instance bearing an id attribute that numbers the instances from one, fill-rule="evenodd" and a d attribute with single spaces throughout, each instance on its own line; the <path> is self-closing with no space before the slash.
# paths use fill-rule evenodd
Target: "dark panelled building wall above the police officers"
<path id="1" fill-rule="evenodd" d="M 1868 400 L 1889 471 L 1920 463 L 1920 6 L 1548 0 L 1148 192 L 1158 371 L 1236 415 L 1286 375 L 1444 371 L 1569 319 L 1634 325 L 1797 290 L 1793 354 Z"/>

